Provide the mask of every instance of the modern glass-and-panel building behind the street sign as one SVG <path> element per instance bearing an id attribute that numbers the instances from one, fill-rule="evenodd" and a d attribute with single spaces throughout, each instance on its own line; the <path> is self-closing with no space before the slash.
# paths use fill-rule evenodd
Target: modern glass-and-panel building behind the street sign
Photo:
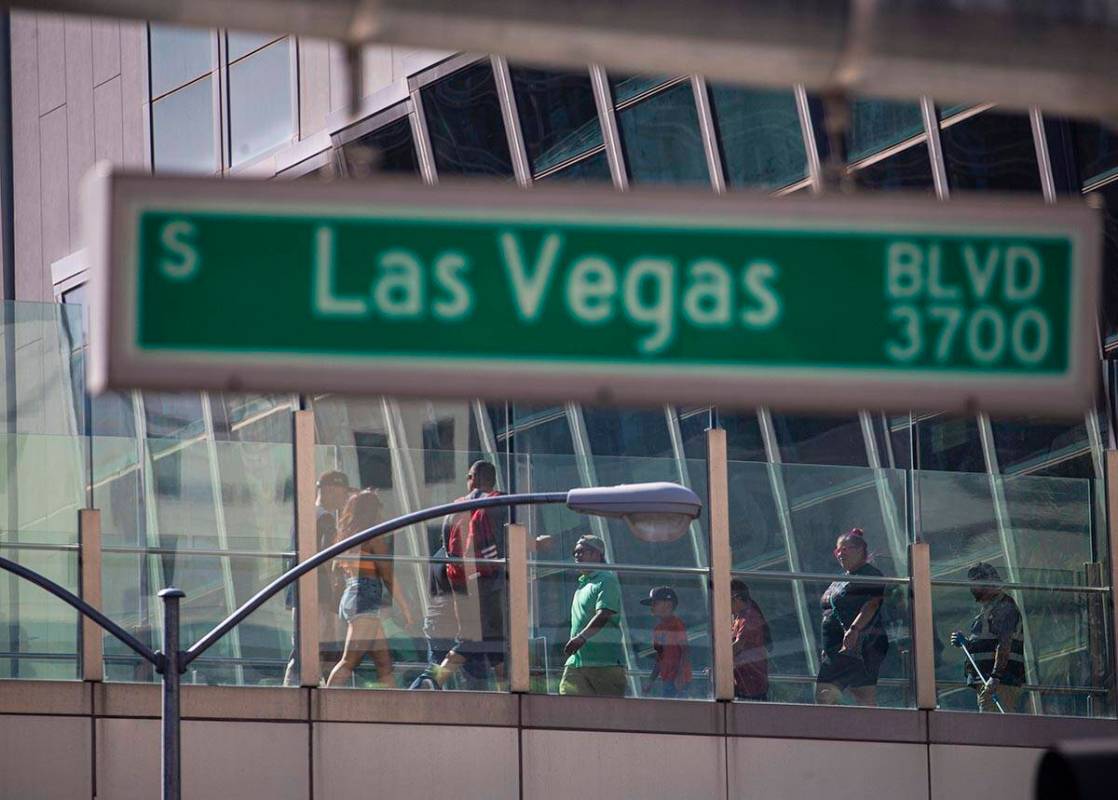
<path id="1" fill-rule="evenodd" d="M 366 51 L 363 97 L 347 109 L 343 53 L 329 42 L 17 11 L 9 30 L 0 554 L 100 596 L 110 617 L 158 647 L 160 589 L 187 592 L 183 638 L 193 641 L 290 565 L 301 464 L 376 489 L 390 516 L 462 495 L 479 458 L 496 466 L 509 492 L 670 479 L 726 511 L 724 522 L 709 511 L 678 541 L 654 545 L 619 524 L 520 509 L 530 534 L 553 541 L 525 568 L 527 693 L 509 693 L 500 673 L 459 678 L 452 688 L 461 692 L 389 691 L 426 664 L 418 628 L 389 613 L 391 682 L 367 663 L 353 682 L 367 691 L 319 689 L 302 665 L 304 685 L 284 686 L 295 617 L 291 602 L 274 598 L 187 675 L 193 796 L 446 788 L 549 797 L 578 763 L 599 792 L 616 797 L 860 797 L 866 787 L 1018 797 L 1039 747 L 1118 731 L 1107 492 L 1115 459 L 1107 355 L 1118 347 L 1112 212 L 1103 392 L 1077 420 L 787 415 L 750 408 L 747 398 L 732 409 L 449 402 L 311 387 L 302 396 L 91 397 L 78 184 L 96 161 L 256 180 L 472 177 L 525 189 L 574 181 L 779 197 L 824 190 L 832 158 L 824 107 L 803 87 L 760 91 L 589 65 L 555 72 L 382 47 Z M 1040 109 L 942 107 L 928 97 L 859 98 L 851 111 L 847 189 L 945 202 L 968 192 L 1118 202 L 1110 197 L 1118 140 L 1100 124 Z M 198 318 L 205 324 L 205 308 Z M 313 420 L 310 439 L 296 435 L 296 413 Z M 724 451 L 708 429 L 724 431 Z M 79 526 L 82 509 L 97 509 L 100 535 Z M 842 573 L 835 539 L 852 527 L 865 531 L 883 573 L 873 585 L 890 641 L 878 680 L 884 707 L 821 708 L 821 602 Z M 622 583 L 624 699 L 550 696 L 578 580 L 570 551 L 584 533 L 604 539 Z M 929 547 L 930 587 L 913 584 L 917 542 Z M 417 611 L 428 606 L 438 545 L 437 524 L 394 536 L 400 590 Z M 717 571 L 720 547 L 730 565 Z M 1022 610 L 1025 689 L 1012 718 L 973 713 L 963 656 L 948 645 L 976 613 L 967 571 L 977 562 L 997 568 Z M 769 623 L 768 703 L 718 696 L 714 675 L 731 665 L 714 657 L 722 621 L 712 625 L 712 585 L 730 578 L 749 584 Z M 655 620 L 639 601 L 657 585 L 675 589 L 689 632 L 693 679 L 680 701 L 645 687 Z M 921 590 L 930 592 L 932 626 L 917 630 Z M 0 751 L 19 788 L 11 796 L 150 797 L 158 676 L 111 638 L 91 666 L 77 616 L 7 573 L 0 619 L 0 736 L 11 745 Z M 340 636 L 319 632 L 324 641 Z M 935 651 L 935 708 L 918 698 L 913 654 L 929 644 L 919 636 Z M 37 743 L 59 737 L 82 753 L 72 774 L 53 775 L 32 758 Z M 864 764 L 863 774 L 836 790 L 851 762 Z M 800 763 L 809 769 L 790 766 Z"/>

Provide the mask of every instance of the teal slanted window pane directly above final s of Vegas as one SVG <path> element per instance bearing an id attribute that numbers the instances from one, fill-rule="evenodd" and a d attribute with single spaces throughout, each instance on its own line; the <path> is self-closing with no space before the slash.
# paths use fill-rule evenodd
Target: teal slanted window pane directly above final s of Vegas
<path id="1" fill-rule="evenodd" d="M 771 189 L 807 174 L 792 92 L 712 85 L 710 95 L 729 185 Z"/>

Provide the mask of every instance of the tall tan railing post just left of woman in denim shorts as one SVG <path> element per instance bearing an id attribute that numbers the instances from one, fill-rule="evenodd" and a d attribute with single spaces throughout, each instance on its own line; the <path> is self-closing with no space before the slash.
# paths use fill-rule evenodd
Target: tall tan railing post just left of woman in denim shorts
<path id="1" fill-rule="evenodd" d="M 314 411 L 295 412 L 295 562 L 319 552 L 314 494 Z M 325 569 L 320 566 L 319 569 Z M 319 630 L 319 573 L 299 579 L 295 592 L 295 640 L 299 642 L 299 685 L 318 686 L 322 677 Z"/>

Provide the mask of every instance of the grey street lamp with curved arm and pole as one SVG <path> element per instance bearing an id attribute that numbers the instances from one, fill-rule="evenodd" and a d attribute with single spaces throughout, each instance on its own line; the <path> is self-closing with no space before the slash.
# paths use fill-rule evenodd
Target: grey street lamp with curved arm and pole
<path id="1" fill-rule="evenodd" d="M 301 564 L 293 566 L 276 578 L 269 584 L 256 592 L 248 602 L 238 608 L 206 636 L 196 641 L 187 650 L 179 649 L 179 602 L 182 591 L 174 588 L 163 589 L 159 597 L 163 601 L 163 649 L 153 653 L 143 642 L 124 630 L 116 622 L 105 617 L 101 611 L 89 606 L 85 600 L 58 585 L 49 578 L 34 570 L 0 556 L 0 569 L 12 572 L 73 606 L 127 647 L 151 663 L 163 676 L 163 718 L 162 718 L 162 766 L 163 766 L 163 800 L 179 800 L 181 797 L 181 736 L 180 736 L 180 685 L 187 667 L 212 647 L 226 634 L 236 628 L 256 609 L 267 602 L 273 596 L 286 589 L 291 583 L 305 575 L 331 559 L 369 540 L 388 535 L 408 525 L 427 520 L 458 514 L 479 508 L 491 508 L 514 505 L 547 505 L 563 503 L 571 511 L 591 516 L 620 517 L 625 520 L 634 534 L 641 537 L 661 536 L 672 539 L 686 530 L 688 524 L 702 512 L 702 503 L 695 493 L 676 484 L 624 484 L 620 486 L 595 486 L 591 488 L 571 489 L 569 492 L 532 492 L 515 495 L 494 495 L 456 501 L 445 505 L 433 506 L 411 514 L 398 516 L 370 528 L 354 533 L 337 544 L 315 553 Z"/>

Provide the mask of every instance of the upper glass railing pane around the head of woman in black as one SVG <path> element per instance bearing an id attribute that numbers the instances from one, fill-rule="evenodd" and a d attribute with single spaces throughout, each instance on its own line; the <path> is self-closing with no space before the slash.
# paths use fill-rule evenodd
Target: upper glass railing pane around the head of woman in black
<path id="1" fill-rule="evenodd" d="M 856 527 L 875 569 L 908 574 L 902 470 L 730 461 L 728 474 L 735 569 L 842 574 L 835 541 Z"/>

